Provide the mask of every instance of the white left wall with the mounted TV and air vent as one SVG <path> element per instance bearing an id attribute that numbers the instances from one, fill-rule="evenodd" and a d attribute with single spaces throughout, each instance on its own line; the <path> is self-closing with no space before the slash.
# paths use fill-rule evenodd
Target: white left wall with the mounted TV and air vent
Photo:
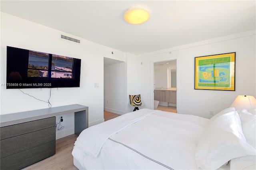
<path id="1" fill-rule="evenodd" d="M 78 38 L 81 40 L 79 45 L 60 40 L 59 36 L 58 30 L 1 12 L 0 83 L 1 85 L 6 83 L 6 46 L 80 58 L 82 59 L 80 87 L 58 90 L 53 88 L 50 102 L 52 107 L 71 104 L 86 105 L 89 107 L 89 126 L 100 123 L 104 121 L 103 57 L 125 61 L 126 54 L 82 38 Z M 114 51 L 115 55 L 112 55 L 111 51 Z M 95 88 L 94 83 L 99 83 L 99 88 Z M 1 115 L 48 108 L 48 103 L 24 95 L 18 89 L 6 89 L 5 86 L 1 86 L 0 89 Z M 42 100 L 48 100 L 50 91 L 50 89 L 22 90 Z M 68 116 L 67 119 L 64 117 L 62 125 L 65 128 L 72 128 L 73 125 L 69 121 L 72 122 L 74 118 Z"/>

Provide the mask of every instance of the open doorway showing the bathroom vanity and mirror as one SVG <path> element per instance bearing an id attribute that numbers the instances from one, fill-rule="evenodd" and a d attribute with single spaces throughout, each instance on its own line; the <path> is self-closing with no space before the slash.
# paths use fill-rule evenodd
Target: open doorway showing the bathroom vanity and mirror
<path id="1" fill-rule="evenodd" d="M 177 61 L 154 62 L 154 109 L 177 113 Z"/>

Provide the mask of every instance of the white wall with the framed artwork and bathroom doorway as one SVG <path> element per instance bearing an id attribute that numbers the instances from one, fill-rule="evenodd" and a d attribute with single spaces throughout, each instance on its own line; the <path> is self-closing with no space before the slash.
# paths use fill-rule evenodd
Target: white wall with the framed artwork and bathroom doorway
<path id="1" fill-rule="evenodd" d="M 216 114 L 230 107 L 237 95 L 256 97 L 255 40 L 255 30 L 251 30 L 138 55 L 138 91 L 144 96 L 145 107 L 153 108 L 153 62 L 169 59 L 177 59 L 178 113 L 210 118 L 210 110 Z M 236 91 L 195 90 L 194 58 L 229 52 L 236 52 Z"/>

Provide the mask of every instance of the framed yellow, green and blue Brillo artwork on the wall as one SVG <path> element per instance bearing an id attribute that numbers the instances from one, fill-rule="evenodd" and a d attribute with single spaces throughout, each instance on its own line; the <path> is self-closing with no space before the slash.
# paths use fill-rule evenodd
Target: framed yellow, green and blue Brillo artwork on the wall
<path id="1" fill-rule="evenodd" d="M 236 52 L 195 57 L 195 89 L 235 91 Z"/>

